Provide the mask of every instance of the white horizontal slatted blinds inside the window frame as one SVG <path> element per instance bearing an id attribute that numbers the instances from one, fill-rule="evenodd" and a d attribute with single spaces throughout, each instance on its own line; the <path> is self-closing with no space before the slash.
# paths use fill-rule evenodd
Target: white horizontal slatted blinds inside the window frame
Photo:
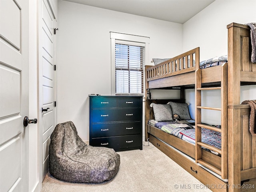
<path id="1" fill-rule="evenodd" d="M 143 94 L 144 46 L 115 44 L 116 94 Z"/>

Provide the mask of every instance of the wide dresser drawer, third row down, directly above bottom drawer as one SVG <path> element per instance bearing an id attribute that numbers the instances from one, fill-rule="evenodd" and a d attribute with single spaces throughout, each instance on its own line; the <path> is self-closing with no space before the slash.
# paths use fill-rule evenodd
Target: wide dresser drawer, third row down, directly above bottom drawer
<path id="1" fill-rule="evenodd" d="M 92 138 L 140 134 L 141 122 L 92 124 Z"/>

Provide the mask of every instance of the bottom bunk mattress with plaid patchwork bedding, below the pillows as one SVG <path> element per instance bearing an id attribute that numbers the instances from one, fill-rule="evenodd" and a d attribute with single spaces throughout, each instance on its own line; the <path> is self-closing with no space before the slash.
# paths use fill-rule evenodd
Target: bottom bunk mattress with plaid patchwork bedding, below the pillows
<path id="1" fill-rule="evenodd" d="M 171 135 L 174 135 L 182 140 L 195 144 L 196 131 L 195 131 L 195 121 L 194 120 L 182 120 L 179 122 L 164 121 L 157 122 L 155 120 L 149 120 L 148 124 L 156 128 L 161 129 Z M 220 126 L 216 126 L 220 128 Z M 213 130 L 208 130 L 206 128 L 201 128 L 202 132 L 202 142 L 221 149 L 221 133 Z M 211 151 L 214 154 L 216 152 Z"/>

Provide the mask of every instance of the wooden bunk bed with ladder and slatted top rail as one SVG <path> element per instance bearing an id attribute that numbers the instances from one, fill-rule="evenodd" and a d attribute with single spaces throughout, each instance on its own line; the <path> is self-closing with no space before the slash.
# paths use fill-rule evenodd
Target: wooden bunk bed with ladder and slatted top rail
<path id="1" fill-rule="evenodd" d="M 228 63 L 200 69 L 199 48 L 195 48 L 156 66 L 146 66 L 146 89 L 179 89 L 180 99 L 174 101 L 185 102 L 184 90 L 195 88 L 196 139 L 195 144 L 190 144 L 149 125 L 148 120 L 154 118 L 150 104 L 170 100 L 146 99 L 145 140 L 149 139 L 212 191 L 255 191 L 256 137 L 249 132 L 250 106 L 240 104 L 240 85 L 256 84 L 256 64 L 250 61 L 250 28 L 236 23 L 227 28 Z M 201 92 L 215 89 L 221 92 L 221 107 L 201 106 Z M 202 109 L 221 111 L 221 129 L 201 123 Z M 201 128 L 221 132 L 221 150 L 201 141 Z"/>

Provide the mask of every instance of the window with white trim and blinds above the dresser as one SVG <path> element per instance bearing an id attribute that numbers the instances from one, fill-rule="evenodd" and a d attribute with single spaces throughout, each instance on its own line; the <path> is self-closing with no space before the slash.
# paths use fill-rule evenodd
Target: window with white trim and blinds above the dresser
<path id="1" fill-rule="evenodd" d="M 112 95 L 143 95 L 148 38 L 111 32 L 111 40 Z"/>

